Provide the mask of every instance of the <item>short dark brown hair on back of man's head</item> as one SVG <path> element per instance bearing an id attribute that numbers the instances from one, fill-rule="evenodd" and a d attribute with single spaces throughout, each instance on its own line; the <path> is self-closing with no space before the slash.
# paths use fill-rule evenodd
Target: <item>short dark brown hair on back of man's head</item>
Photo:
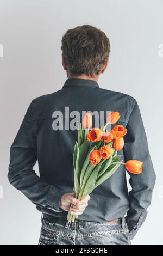
<path id="1" fill-rule="evenodd" d="M 68 29 L 62 36 L 61 50 L 71 74 L 94 77 L 109 57 L 110 42 L 100 29 L 83 25 Z"/>

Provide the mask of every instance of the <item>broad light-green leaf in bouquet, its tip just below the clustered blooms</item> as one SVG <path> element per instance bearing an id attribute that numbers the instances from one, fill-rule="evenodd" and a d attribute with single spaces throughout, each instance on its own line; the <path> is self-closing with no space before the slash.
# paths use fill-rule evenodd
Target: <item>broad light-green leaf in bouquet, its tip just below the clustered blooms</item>
<path id="1" fill-rule="evenodd" d="M 82 198 L 87 196 L 87 194 L 90 194 L 93 191 L 93 189 L 95 188 L 98 172 L 102 166 L 102 163 L 103 163 L 103 161 L 101 161 L 100 163 L 97 164 L 97 166 L 95 167 L 95 169 L 93 170 L 93 172 L 91 173 L 89 178 L 87 179 L 83 193 L 82 193 Z"/>

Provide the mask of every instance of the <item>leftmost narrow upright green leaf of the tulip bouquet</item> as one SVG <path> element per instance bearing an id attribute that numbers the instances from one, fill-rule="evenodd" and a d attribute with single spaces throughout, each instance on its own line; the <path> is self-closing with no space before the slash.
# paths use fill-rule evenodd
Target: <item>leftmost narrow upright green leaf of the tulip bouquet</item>
<path id="1" fill-rule="evenodd" d="M 78 168 L 78 161 L 79 161 L 79 147 L 78 147 L 78 143 L 76 142 L 76 144 L 74 146 L 74 152 L 73 152 L 74 192 L 76 193 L 76 197 L 78 196 L 78 191 L 79 191 L 79 181 L 78 181 L 79 168 Z"/>

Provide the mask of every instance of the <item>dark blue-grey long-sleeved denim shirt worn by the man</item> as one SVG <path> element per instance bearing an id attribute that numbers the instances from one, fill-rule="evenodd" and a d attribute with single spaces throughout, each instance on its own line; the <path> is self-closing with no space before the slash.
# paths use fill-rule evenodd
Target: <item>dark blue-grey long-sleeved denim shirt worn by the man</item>
<path id="1" fill-rule="evenodd" d="M 146 218 L 155 184 L 155 172 L 137 101 L 127 94 L 105 90 L 93 80 L 68 78 L 58 92 L 43 95 L 30 103 L 20 129 L 10 148 L 9 181 L 36 204 L 37 210 L 55 217 L 66 217 L 60 198 L 73 192 L 74 144 L 77 130 L 52 129 L 54 111 L 119 111 L 115 124 L 127 128 L 124 147 L 118 154 L 126 162 L 143 162 L 142 174 L 130 174 L 128 192 L 126 169 L 121 165 L 108 180 L 91 194 L 89 205 L 80 220 L 105 222 L 126 215 L 133 239 Z M 63 114 L 63 118 L 67 118 Z M 111 125 L 111 128 L 115 125 Z M 33 167 L 38 161 L 40 176 Z"/>

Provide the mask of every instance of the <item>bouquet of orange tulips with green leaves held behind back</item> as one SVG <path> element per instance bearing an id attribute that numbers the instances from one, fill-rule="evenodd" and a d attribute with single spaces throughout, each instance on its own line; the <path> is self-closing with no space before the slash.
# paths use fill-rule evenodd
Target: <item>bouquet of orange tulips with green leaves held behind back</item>
<path id="1" fill-rule="evenodd" d="M 107 122 L 100 128 L 92 126 L 92 114 L 84 115 L 82 124 L 79 125 L 78 142 L 74 145 L 73 168 L 74 168 L 74 193 L 78 200 L 83 200 L 97 186 L 101 185 L 116 172 L 121 164 L 126 166 L 128 172 L 133 174 L 142 173 L 143 163 L 138 160 L 129 160 L 126 163 L 117 155 L 117 151 L 124 146 L 123 137 L 127 129 L 123 125 L 116 125 L 108 132 L 106 127 L 115 124 L 120 119 L 118 111 L 110 112 Z M 74 222 L 75 218 L 68 211 L 67 220 Z"/>

